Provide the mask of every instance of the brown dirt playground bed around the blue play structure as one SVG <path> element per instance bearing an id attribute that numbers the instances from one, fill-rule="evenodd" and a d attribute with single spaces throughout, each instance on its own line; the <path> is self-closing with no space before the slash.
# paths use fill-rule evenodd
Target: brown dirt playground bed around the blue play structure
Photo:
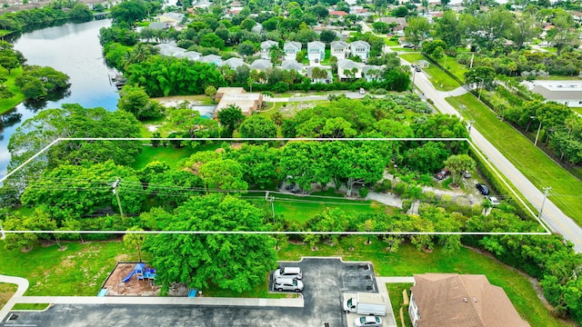
<path id="1" fill-rule="evenodd" d="M 146 265 L 146 268 L 149 266 Z M 104 288 L 107 289 L 107 296 L 127 295 L 127 296 L 156 296 L 160 292 L 161 286 L 153 281 L 138 281 L 135 274 L 127 282 L 123 282 L 125 276 L 135 269 L 135 263 L 118 263 L 115 270 L 109 275 Z"/>

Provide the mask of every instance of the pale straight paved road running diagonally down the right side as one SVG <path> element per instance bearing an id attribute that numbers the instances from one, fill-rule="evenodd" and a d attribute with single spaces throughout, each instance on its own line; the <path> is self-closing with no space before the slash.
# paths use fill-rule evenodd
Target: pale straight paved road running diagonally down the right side
<path id="1" fill-rule="evenodd" d="M 404 64 L 409 64 L 404 59 L 401 59 Z M 415 84 L 421 92 L 423 92 L 427 98 L 432 99 L 435 103 L 437 109 L 443 114 L 454 114 L 460 116 L 457 110 L 450 104 L 447 103 L 445 98 L 450 96 L 452 93 L 437 91 L 435 87 L 428 81 L 426 74 L 423 72 L 415 73 Z M 453 94 L 459 94 L 460 92 L 453 92 Z M 537 189 L 537 187 L 527 180 L 523 173 L 517 170 L 513 163 L 510 163 L 507 158 L 497 151 L 496 147 L 487 141 L 487 139 L 480 134 L 475 127 L 470 131 L 471 140 L 477 145 L 479 150 L 487 156 L 490 163 L 493 163 L 499 172 L 513 183 L 520 193 L 530 203 L 533 203 L 537 209 L 541 208 L 542 202 L 544 200 L 544 194 Z M 517 137 L 523 137 L 521 135 Z M 542 173 L 542 172 L 540 172 Z M 536 212 L 537 213 L 537 212 Z M 544 205 L 544 212 L 542 213 L 542 220 L 547 223 L 550 229 L 556 233 L 562 234 L 567 240 L 574 243 L 574 249 L 577 253 L 582 253 L 582 228 L 577 225 L 570 217 L 562 213 L 557 206 L 551 202 L 551 196 L 549 196 Z"/>

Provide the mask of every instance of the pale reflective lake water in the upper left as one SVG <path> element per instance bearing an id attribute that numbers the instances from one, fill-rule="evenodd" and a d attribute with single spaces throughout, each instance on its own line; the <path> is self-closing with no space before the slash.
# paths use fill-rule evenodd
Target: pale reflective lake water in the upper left
<path id="1" fill-rule="evenodd" d="M 3 114 L 5 128 L 0 132 L 0 177 L 5 176 L 10 163 L 7 146 L 10 136 L 26 119 L 38 110 L 60 108 L 61 104 L 81 104 L 84 107 L 104 107 L 114 111 L 119 94 L 111 83 L 115 71 L 105 65 L 99 29 L 109 27 L 104 19 L 82 24 L 68 23 L 26 33 L 15 40 L 15 50 L 22 52 L 26 64 L 51 66 L 70 77 L 70 94 L 65 98 L 41 104 L 40 107 L 19 104 L 15 110 Z"/>

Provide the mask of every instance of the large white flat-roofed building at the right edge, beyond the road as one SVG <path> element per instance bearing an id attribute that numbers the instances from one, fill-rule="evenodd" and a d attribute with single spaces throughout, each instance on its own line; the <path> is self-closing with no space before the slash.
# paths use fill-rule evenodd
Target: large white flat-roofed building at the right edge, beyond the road
<path id="1" fill-rule="evenodd" d="M 530 91 L 546 98 L 546 102 L 582 107 L 581 81 L 532 81 L 524 84 L 527 84 Z"/>

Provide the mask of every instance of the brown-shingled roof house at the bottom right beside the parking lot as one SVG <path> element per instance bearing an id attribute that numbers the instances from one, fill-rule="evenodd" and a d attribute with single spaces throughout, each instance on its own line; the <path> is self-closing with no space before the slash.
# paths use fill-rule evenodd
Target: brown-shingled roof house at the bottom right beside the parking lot
<path id="1" fill-rule="evenodd" d="M 506 292 L 482 274 L 414 275 L 408 313 L 413 327 L 527 327 Z"/>

